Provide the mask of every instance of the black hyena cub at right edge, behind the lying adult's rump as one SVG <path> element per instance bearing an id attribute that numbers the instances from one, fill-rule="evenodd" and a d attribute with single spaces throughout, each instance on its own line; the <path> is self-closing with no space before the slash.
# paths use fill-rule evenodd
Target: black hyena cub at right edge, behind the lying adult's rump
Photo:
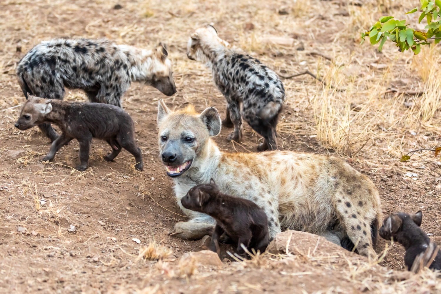
<path id="1" fill-rule="evenodd" d="M 406 249 L 404 264 L 408 270 L 416 260 L 423 260 L 422 265 L 430 263 L 430 269 L 441 269 L 441 251 L 435 243 L 430 241 L 421 226 L 422 212 L 408 215 L 404 212 L 394 212 L 385 218 L 383 226 L 378 231 L 380 236 L 402 244 Z M 429 249 L 429 250 L 428 250 Z M 437 252 L 437 253 L 436 253 Z M 415 268 L 415 266 L 414 266 Z"/>

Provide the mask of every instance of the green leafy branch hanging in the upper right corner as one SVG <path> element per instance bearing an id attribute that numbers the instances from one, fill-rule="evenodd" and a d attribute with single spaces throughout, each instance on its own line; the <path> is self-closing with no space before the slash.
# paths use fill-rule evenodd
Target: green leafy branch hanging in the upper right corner
<path id="1" fill-rule="evenodd" d="M 394 42 L 400 52 L 404 52 L 409 48 L 414 54 L 418 54 L 421 45 L 429 45 L 428 40 L 434 40 L 437 44 L 441 41 L 441 0 L 420 0 L 420 8 L 414 8 L 406 14 L 421 12 L 418 23 L 426 18 L 426 32 L 412 29 L 406 20 L 396 20 L 393 16 L 382 16 L 369 30 L 361 34 L 361 44 L 366 37 L 369 38 L 370 44 L 380 43 L 378 50 L 381 51 L 386 40 Z M 439 18 L 438 21 L 436 21 Z"/>

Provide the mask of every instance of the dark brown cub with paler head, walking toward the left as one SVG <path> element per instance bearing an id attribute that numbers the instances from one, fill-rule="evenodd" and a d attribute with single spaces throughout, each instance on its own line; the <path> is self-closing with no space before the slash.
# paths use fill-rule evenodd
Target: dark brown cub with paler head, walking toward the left
<path id="1" fill-rule="evenodd" d="M 92 138 L 98 138 L 106 140 L 112 147 L 112 153 L 105 156 L 105 160 L 112 161 L 123 147 L 135 157 L 135 168 L 142 170 L 141 149 L 134 138 L 135 126 L 123 109 L 103 103 L 68 103 L 28 95 L 15 127 L 23 131 L 46 122 L 56 124 L 62 132 L 42 161 L 52 161 L 61 147 L 71 139 L 77 139 L 80 164 L 76 169 L 86 170 L 90 142 Z"/>

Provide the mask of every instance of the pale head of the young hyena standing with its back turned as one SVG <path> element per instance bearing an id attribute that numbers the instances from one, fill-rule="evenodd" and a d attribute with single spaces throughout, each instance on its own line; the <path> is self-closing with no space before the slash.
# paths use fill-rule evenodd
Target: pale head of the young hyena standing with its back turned
<path id="1" fill-rule="evenodd" d="M 205 63 L 209 60 L 211 50 L 228 46 L 227 41 L 217 36 L 217 30 L 214 26 L 207 25 L 198 28 L 191 34 L 187 43 L 187 57 Z"/>

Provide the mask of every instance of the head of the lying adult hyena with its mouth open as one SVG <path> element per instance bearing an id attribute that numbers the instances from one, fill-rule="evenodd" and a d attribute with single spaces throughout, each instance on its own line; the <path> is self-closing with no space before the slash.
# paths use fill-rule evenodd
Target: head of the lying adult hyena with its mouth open
<path id="1" fill-rule="evenodd" d="M 159 154 L 170 177 L 198 169 L 208 155 L 210 137 L 221 132 L 221 117 L 214 107 L 201 114 L 193 106 L 171 111 L 160 99 L 157 122 Z"/>

